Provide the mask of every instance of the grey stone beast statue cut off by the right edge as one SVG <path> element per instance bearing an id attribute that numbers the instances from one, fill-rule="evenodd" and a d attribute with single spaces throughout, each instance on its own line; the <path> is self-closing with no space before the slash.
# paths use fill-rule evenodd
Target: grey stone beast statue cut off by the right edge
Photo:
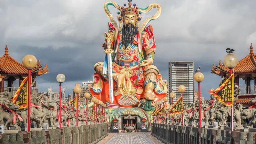
<path id="1" fill-rule="evenodd" d="M 249 123 L 245 126 L 245 128 L 252 128 L 252 126 L 256 123 L 255 111 L 256 108 L 249 108 L 241 111 L 241 118 L 243 120 L 249 120 Z"/>

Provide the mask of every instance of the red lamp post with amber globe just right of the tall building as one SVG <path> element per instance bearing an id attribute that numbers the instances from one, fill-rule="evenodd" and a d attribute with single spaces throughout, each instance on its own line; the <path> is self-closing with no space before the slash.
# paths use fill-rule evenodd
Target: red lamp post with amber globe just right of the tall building
<path id="1" fill-rule="evenodd" d="M 201 123 L 201 90 L 200 83 L 204 80 L 204 74 L 197 72 L 194 76 L 195 81 L 198 83 L 198 107 L 199 107 L 199 127 L 202 127 Z"/>

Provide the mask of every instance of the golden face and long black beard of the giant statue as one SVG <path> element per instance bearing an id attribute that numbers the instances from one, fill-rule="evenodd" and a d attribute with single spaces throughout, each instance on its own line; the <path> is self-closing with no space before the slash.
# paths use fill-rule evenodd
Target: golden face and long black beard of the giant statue
<path id="1" fill-rule="evenodd" d="M 134 36 L 138 33 L 136 26 L 136 16 L 134 14 L 124 15 L 124 26 L 122 29 L 122 43 L 127 48 L 129 43 L 133 43 Z"/>

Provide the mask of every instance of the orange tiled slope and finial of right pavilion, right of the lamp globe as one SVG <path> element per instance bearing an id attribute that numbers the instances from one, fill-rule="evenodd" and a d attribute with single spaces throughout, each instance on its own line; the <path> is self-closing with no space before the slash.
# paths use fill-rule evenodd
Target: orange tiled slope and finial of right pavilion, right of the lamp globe
<path id="1" fill-rule="evenodd" d="M 256 55 L 253 53 L 252 44 L 250 53 L 244 59 L 238 61 L 234 68 L 235 74 L 255 73 L 256 72 Z"/>

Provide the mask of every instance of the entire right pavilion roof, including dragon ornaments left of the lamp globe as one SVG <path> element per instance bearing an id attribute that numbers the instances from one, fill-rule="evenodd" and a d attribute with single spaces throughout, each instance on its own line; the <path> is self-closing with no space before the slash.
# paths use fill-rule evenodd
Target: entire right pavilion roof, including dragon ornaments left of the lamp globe
<path id="1" fill-rule="evenodd" d="M 229 68 L 219 61 L 219 65 L 212 65 L 211 71 L 219 76 L 226 76 L 229 73 Z M 242 60 L 238 61 L 234 68 L 235 74 L 251 74 L 256 73 L 256 55 L 253 53 L 253 46 L 250 46 L 250 53 Z"/>

